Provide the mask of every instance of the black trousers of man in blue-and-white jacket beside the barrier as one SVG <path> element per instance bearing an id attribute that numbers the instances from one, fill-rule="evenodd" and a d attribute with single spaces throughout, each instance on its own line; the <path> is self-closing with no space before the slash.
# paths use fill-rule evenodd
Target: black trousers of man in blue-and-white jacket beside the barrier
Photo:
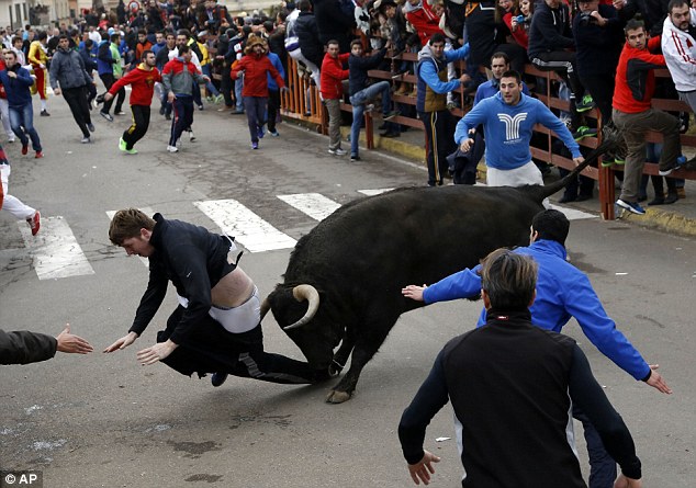
<path id="1" fill-rule="evenodd" d="M 447 157 L 457 149 L 452 137 L 457 121 L 448 110 L 418 112 L 418 117 L 425 126 L 428 185 L 441 185 L 442 179 L 448 171 Z"/>

